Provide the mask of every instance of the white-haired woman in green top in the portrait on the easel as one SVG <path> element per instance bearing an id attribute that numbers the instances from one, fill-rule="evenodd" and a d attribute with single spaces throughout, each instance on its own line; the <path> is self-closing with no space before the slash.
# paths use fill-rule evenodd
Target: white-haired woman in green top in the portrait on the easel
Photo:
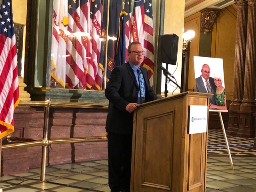
<path id="1" fill-rule="evenodd" d="M 227 110 L 225 88 L 222 86 L 221 75 L 214 74 L 214 84 L 216 85 L 216 92 L 215 92 L 216 105 L 210 103 L 209 108 Z"/>

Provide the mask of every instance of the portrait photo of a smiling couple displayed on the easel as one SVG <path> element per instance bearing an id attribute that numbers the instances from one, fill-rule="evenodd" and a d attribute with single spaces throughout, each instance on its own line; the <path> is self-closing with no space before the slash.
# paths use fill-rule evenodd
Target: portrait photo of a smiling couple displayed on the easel
<path id="1" fill-rule="evenodd" d="M 209 109 L 227 110 L 223 60 L 194 56 L 196 92 L 212 93 Z"/>

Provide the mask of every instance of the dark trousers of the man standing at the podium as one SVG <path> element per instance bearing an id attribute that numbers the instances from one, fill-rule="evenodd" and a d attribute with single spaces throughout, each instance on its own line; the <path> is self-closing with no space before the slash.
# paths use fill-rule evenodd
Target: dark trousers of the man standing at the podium
<path id="1" fill-rule="evenodd" d="M 131 161 L 132 133 L 108 132 L 108 184 L 111 192 L 130 190 Z"/>

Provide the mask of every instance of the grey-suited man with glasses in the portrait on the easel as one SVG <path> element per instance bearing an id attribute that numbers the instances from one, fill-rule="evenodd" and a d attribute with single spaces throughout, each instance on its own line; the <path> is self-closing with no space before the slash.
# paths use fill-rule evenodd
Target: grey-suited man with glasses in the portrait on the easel
<path id="1" fill-rule="evenodd" d="M 196 92 L 212 93 L 213 96 L 210 97 L 210 103 L 215 105 L 216 85 L 214 84 L 214 79 L 210 77 L 210 67 L 208 64 L 203 64 L 201 73 L 202 75 L 196 78 Z"/>

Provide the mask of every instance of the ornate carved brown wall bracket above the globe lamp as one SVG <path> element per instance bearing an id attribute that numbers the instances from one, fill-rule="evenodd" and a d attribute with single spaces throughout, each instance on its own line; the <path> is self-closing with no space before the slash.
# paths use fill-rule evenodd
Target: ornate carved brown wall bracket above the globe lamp
<path id="1" fill-rule="evenodd" d="M 219 9 L 204 9 L 201 10 L 201 26 L 200 30 L 204 32 L 204 34 L 208 34 L 208 32 L 212 32 L 212 26 L 217 18 Z"/>

